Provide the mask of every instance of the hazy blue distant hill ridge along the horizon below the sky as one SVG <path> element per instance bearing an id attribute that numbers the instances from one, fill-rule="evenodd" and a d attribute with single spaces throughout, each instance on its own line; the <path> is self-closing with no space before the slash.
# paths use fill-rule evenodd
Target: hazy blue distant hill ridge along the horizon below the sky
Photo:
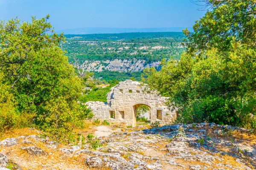
<path id="1" fill-rule="evenodd" d="M 57 34 L 115 34 L 126 32 L 182 32 L 185 27 L 172 28 L 74 28 L 56 31 Z M 188 28 L 193 31 L 193 28 Z"/>

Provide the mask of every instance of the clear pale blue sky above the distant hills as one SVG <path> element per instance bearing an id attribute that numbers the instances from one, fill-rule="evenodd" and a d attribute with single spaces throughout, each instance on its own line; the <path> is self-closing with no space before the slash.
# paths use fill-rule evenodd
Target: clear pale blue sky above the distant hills
<path id="1" fill-rule="evenodd" d="M 55 30 L 192 27 L 206 11 L 190 0 L 0 0 L 0 20 L 50 15 Z"/>

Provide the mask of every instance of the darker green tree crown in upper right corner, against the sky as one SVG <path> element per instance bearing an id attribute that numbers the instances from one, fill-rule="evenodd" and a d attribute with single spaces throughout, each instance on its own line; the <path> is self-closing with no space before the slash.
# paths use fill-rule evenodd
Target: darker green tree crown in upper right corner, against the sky
<path id="1" fill-rule="evenodd" d="M 210 48 L 228 51 L 232 42 L 240 42 L 251 48 L 256 45 L 255 0 L 198 0 L 208 11 L 195 22 L 194 32 L 187 29 L 186 46 L 191 53 L 204 53 Z"/>

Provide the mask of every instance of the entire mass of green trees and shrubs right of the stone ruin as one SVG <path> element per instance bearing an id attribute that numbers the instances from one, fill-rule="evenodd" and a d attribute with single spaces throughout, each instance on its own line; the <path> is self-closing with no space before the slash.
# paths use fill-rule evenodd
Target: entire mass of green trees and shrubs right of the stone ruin
<path id="1" fill-rule="evenodd" d="M 179 121 L 215 122 L 255 128 L 255 3 L 210 0 L 204 17 L 187 36 L 180 61 L 163 61 L 145 71 L 144 82 L 169 96 Z"/>

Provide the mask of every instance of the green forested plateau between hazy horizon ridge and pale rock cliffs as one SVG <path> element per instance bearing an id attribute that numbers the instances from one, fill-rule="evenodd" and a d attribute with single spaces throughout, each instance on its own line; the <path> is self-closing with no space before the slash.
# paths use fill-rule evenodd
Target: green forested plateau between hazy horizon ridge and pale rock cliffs
<path id="1" fill-rule="evenodd" d="M 121 33 L 65 35 L 66 42 L 61 48 L 67 51 L 70 62 L 73 57 L 80 62 L 105 61 L 113 59 L 143 59 L 146 62 L 161 61 L 166 58 L 179 59 L 185 50 L 181 45 L 181 32 Z"/>

